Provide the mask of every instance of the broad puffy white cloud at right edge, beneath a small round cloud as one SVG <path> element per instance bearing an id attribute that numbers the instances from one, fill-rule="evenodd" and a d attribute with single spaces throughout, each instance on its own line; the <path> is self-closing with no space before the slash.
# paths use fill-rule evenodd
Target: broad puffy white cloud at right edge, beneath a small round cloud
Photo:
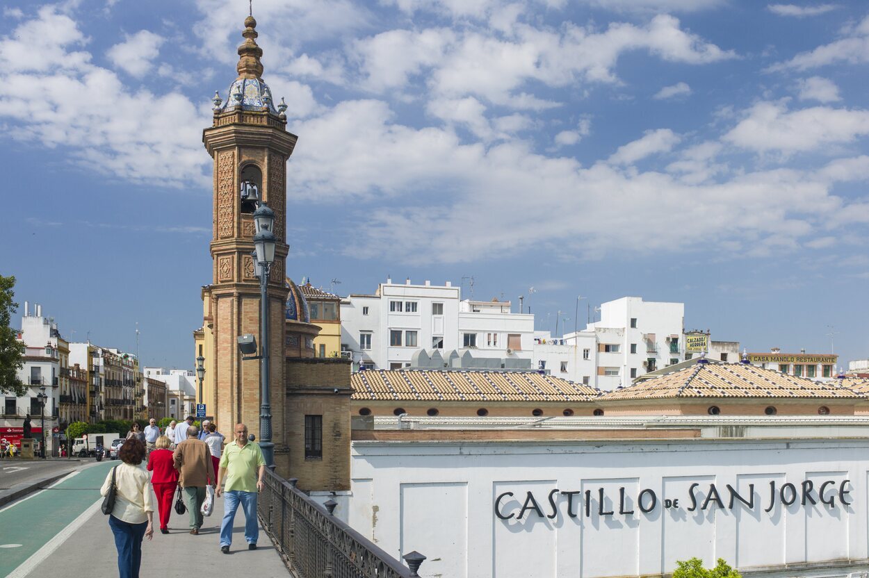
<path id="1" fill-rule="evenodd" d="M 788 111 L 784 102 L 758 102 L 724 140 L 758 153 L 792 154 L 869 135 L 869 111 L 813 107 Z"/>

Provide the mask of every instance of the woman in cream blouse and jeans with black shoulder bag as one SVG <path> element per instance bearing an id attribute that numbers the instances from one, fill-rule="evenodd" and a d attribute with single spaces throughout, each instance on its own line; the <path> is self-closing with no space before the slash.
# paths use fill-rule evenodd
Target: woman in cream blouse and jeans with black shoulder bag
<path id="1" fill-rule="evenodd" d="M 115 534 L 117 569 L 120 578 L 139 578 L 142 565 L 142 541 L 154 535 L 154 500 L 150 474 L 142 467 L 145 444 L 136 437 L 123 443 L 117 456 L 121 464 L 115 470 L 115 508 L 109 516 L 109 527 Z M 100 494 L 108 496 L 112 472 L 106 476 Z"/>

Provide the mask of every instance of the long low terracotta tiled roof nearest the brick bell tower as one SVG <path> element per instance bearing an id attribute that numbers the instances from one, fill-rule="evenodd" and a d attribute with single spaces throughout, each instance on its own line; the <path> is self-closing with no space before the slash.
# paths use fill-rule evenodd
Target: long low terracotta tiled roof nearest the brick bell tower
<path id="1" fill-rule="evenodd" d="M 353 399 L 372 401 L 594 401 L 600 390 L 533 371 L 368 370 L 353 374 Z"/>

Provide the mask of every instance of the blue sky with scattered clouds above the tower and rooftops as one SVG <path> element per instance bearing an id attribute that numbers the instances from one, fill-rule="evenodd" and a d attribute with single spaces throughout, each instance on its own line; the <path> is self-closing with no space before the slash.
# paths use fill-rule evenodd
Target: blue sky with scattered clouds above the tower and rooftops
<path id="1" fill-rule="evenodd" d="M 243 0 L 3 3 L 0 272 L 68 338 L 192 365 L 209 99 Z M 299 135 L 288 271 L 624 295 L 750 351 L 869 357 L 869 8 L 736 0 L 255 0 Z M 465 281 L 468 288 L 468 281 Z M 467 291 L 466 291 L 467 296 Z M 834 329 L 831 330 L 830 326 Z"/>

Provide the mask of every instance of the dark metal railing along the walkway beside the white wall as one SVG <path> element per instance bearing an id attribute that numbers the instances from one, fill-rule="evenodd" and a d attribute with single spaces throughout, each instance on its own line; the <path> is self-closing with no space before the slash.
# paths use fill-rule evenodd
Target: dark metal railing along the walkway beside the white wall
<path id="1" fill-rule="evenodd" d="M 266 470 L 257 500 L 262 528 L 275 542 L 290 574 L 298 578 L 417 578 L 425 556 L 404 556 L 408 567 L 332 515 L 323 506 Z"/>

